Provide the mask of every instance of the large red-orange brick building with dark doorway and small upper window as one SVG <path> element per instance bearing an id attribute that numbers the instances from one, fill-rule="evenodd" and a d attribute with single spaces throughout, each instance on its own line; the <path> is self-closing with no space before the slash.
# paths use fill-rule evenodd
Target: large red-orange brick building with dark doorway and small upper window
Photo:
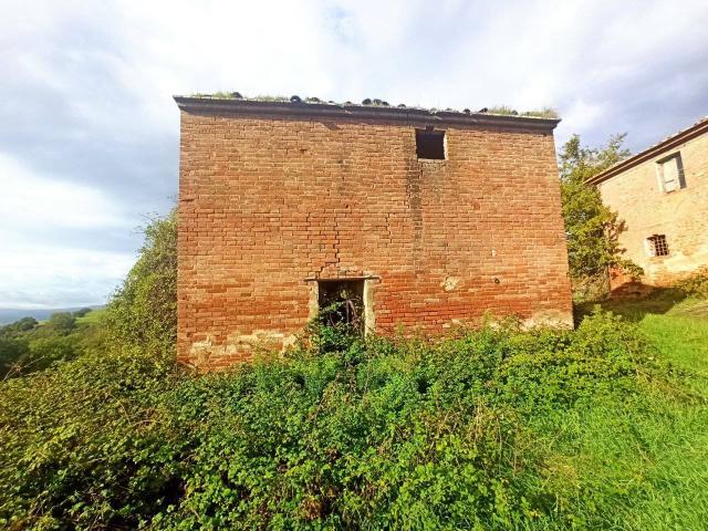
<path id="1" fill-rule="evenodd" d="M 572 323 L 556 119 L 176 101 L 181 361 L 283 347 L 340 299 L 367 332 Z"/>

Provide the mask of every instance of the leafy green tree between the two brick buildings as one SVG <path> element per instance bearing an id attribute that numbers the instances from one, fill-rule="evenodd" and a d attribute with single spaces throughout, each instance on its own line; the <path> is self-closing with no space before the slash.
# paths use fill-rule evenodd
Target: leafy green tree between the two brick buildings
<path id="1" fill-rule="evenodd" d="M 622 147 L 626 135 L 614 135 L 607 145 L 590 148 L 573 135 L 559 156 L 561 198 L 568 238 L 570 272 L 576 294 L 596 291 L 604 285 L 608 269 L 622 269 L 638 277 L 642 268 L 623 259 L 618 242 L 623 222 L 602 202 L 600 190 L 587 179 L 629 156 Z"/>

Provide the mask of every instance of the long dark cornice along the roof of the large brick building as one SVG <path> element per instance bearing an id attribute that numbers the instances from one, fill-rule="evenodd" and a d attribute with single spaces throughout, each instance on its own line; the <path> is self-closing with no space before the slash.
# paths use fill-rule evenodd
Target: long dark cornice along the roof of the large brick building
<path id="1" fill-rule="evenodd" d="M 487 113 L 430 111 L 417 107 L 388 107 L 375 105 L 339 105 L 332 103 L 264 102 L 257 100 L 227 100 L 212 97 L 174 96 L 180 111 L 215 114 L 266 114 L 277 116 L 310 116 L 321 118 L 366 118 L 394 122 L 428 122 L 460 125 L 497 125 L 550 132 L 560 118 L 508 116 Z"/>

